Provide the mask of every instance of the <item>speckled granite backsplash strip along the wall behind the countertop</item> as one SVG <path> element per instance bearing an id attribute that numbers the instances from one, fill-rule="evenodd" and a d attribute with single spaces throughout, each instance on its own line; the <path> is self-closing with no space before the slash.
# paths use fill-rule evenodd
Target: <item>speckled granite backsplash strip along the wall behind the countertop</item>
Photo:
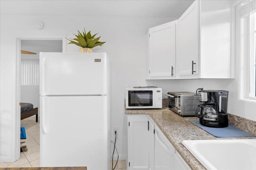
<path id="1" fill-rule="evenodd" d="M 168 107 L 168 99 L 162 98 L 162 106 Z M 256 135 L 256 121 L 228 113 L 228 123 Z"/>

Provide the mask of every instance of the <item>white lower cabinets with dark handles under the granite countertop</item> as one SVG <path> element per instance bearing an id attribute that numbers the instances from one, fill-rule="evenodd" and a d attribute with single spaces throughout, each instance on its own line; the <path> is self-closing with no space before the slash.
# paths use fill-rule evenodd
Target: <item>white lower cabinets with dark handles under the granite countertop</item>
<path id="1" fill-rule="evenodd" d="M 190 170 L 148 115 L 128 116 L 128 170 Z"/>

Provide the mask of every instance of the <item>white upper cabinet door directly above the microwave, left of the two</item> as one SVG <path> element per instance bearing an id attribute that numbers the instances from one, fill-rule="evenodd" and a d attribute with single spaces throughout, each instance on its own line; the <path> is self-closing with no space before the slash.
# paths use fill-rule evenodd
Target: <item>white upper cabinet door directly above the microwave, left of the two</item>
<path id="1" fill-rule="evenodd" d="M 171 79 L 176 75 L 177 20 L 149 29 L 149 79 Z"/>

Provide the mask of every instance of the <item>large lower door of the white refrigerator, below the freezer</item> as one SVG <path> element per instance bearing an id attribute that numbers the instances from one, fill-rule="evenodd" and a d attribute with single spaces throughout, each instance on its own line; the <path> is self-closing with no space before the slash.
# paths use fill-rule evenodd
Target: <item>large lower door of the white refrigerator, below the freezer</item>
<path id="1" fill-rule="evenodd" d="M 107 96 L 40 97 L 40 166 L 110 169 L 106 101 Z"/>

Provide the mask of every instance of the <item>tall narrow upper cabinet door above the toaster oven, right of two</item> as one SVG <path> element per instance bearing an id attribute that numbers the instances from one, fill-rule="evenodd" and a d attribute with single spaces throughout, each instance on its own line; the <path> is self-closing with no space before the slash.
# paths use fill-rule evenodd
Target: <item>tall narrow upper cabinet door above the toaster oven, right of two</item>
<path id="1" fill-rule="evenodd" d="M 199 73 L 199 8 L 198 1 L 178 19 L 179 75 Z"/>

